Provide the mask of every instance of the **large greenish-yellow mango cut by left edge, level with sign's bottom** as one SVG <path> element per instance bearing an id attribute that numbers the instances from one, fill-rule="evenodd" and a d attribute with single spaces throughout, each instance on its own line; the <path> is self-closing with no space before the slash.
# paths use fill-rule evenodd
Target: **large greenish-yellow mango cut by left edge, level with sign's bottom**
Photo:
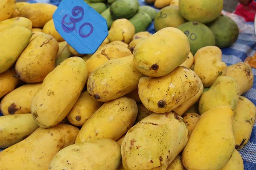
<path id="1" fill-rule="evenodd" d="M 32 32 L 28 28 L 13 26 L 0 34 L 0 73 L 8 70 L 29 44 Z"/>

